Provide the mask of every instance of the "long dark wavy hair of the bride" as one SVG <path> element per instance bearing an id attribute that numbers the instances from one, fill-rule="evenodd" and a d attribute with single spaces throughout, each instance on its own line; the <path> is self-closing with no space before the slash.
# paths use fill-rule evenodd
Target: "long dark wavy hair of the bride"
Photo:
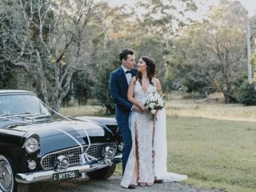
<path id="1" fill-rule="evenodd" d="M 156 70 L 156 63 L 149 57 L 142 56 L 142 60 L 146 63 L 147 65 L 147 76 L 149 78 L 149 83 L 154 86 L 154 83 L 152 82 L 152 78 L 155 75 L 155 70 Z M 142 73 L 138 72 L 136 75 L 136 80 L 139 80 L 140 85 L 142 85 Z"/>

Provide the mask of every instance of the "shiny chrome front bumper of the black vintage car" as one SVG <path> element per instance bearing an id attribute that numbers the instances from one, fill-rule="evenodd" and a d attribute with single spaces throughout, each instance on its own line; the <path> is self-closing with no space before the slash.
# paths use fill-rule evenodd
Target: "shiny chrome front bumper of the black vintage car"
<path id="1" fill-rule="evenodd" d="M 113 164 L 117 164 L 121 161 L 122 161 L 122 154 L 115 156 L 111 160 L 108 160 L 108 162 L 104 162 L 103 160 L 100 160 L 97 163 L 90 164 L 90 165 L 85 164 L 85 165 L 68 167 L 67 169 L 63 170 L 63 172 L 74 171 L 74 170 L 79 170 L 79 173 L 91 172 L 94 170 L 112 166 Z M 16 174 L 15 180 L 18 183 L 25 183 L 25 184 L 46 181 L 46 180 L 53 180 L 53 174 L 58 172 L 61 172 L 61 171 L 49 170 L 49 171 L 19 173 L 19 174 Z"/>

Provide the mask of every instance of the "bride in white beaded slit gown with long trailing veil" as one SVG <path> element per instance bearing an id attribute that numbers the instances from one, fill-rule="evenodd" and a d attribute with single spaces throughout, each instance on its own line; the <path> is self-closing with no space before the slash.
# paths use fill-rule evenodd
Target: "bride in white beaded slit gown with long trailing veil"
<path id="1" fill-rule="evenodd" d="M 154 78 L 155 62 L 142 56 L 138 63 L 138 74 L 132 78 L 128 88 L 128 100 L 144 111 L 132 111 L 129 126 L 132 133 L 132 149 L 126 164 L 121 186 L 152 186 L 154 182 L 180 181 L 187 178 L 167 172 L 166 114 L 159 110 L 157 121 L 150 121 L 143 103 L 148 94 L 162 94 L 160 81 Z"/>

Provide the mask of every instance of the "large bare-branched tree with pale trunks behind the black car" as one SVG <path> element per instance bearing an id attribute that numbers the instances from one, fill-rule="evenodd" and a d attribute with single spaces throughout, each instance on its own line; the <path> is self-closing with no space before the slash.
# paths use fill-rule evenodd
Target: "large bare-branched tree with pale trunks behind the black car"
<path id="1" fill-rule="evenodd" d="M 89 67 L 90 24 L 101 22 L 105 7 L 93 0 L 1 1 L 0 63 L 24 68 L 58 111 L 72 74 Z"/>

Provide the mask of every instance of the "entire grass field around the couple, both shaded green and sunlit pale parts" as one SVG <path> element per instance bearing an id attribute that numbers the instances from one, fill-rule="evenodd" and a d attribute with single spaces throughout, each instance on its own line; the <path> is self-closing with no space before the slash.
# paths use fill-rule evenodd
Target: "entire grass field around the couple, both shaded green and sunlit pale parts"
<path id="1" fill-rule="evenodd" d="M 99 106 L 61 108 L 72 116 L 98 116 Z M 228 192 L 256 191 L 256 107 L 184 100 L 168 95 L 168 171 L 186 184 Z M 102 116 L 102 115 L 100 115 Z M 117 173 L 121 174 L 121 164 Z"/>

